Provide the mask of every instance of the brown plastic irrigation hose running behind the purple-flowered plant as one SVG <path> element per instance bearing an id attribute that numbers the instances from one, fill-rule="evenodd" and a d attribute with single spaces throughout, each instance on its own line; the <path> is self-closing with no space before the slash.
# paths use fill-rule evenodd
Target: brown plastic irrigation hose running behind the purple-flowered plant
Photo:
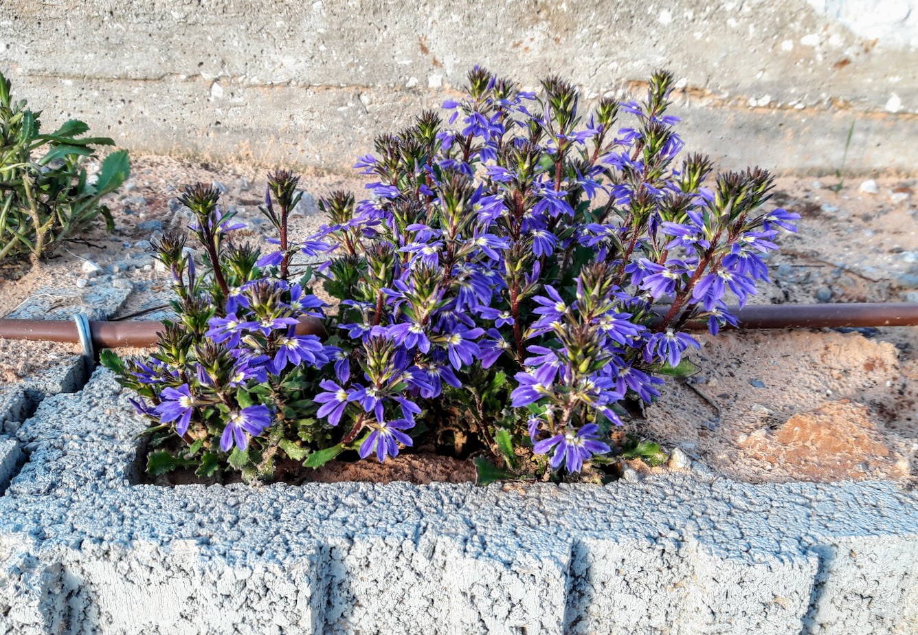
<path id="1" fill-rule="evenodd" d="M 666 306 L 655 307 L 666 313 Z M 742 309 L 731 307 L 739 318 L 741 329 L 822 329 L 839 327 L 910 327 L 918 326 L 918 304 L 864 303 L 827 305 L 756 305 Z M 689 322 L 687 329 L 707 329 L 704 320 Z M 156 343 L 162 322 L 90 322 L 93 349 L 122 346 L 146 348 Z M 325 337 L 322 323 L 314 317 L 303 318 L 297 335 Z M 0 319 L 0 338 L 8 340 L 79 341 L 76 324 L 67 320 Z"/>

